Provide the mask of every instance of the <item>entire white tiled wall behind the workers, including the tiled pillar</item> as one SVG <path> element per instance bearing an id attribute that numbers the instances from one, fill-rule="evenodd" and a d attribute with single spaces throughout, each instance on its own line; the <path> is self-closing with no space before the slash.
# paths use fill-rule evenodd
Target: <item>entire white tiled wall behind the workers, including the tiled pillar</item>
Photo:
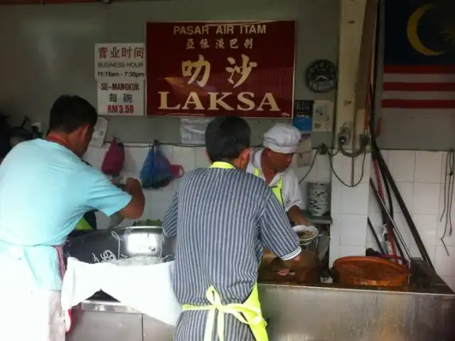
<path id="1" fill-rule="evenodd" d="M 104 148 L 89 148 L 85 159 L 92 166 L 101 168 L 102 159 L 105 156 L 107 146 Z M 144 163 L 148 145 L 135 144 L 125 148 L 124 176 L 139 178 L 141 166 Z M 161 146 L 161 151 L 168 157 L 171 163 L 181 164 L 186 171 L 194 168 L 208 166 L 205 157 L 205 148 L 187 148 L 181 146 Z M 445 152 L 427 151 L 382 151 L 382 155 L 390 168 L 397 187 L 404 198 L 408 210 L 410 210 L 417 229 L 424 240 L 424 244 L 434 261 L 438 274 L 446 283 L 455 289 L 455 234 L 445 239 L 449 249 L 449 256 L 442 247 L 440 237 L 444 232 L 444 221 L 439 222 L 439 217 L 444 209 L 444 178 L 445 178 Z M 363 168 L 362 168 L 363 166 Z M 299 177 L 303 177 L 308 167 L 297 168 Z M 333 169 L 343 182 L 350 184 L 352 174 L 352 159 L 338 153 L 333 157 Z M 371 167 L 371 156 L 367 153 L 365 163 L 363 156 L 359 156 L 354 162 L 354 183 L 360 180 L 363 169 L 363 178 L 353 188 L 341 183 L 333 174 L 328 161 L 328 156 L 317 156 L 313 169 L 304 182 L 301 183 L 302 195 L 306 196 L 306 181 L 330 181 L 332 180 L 331 215 L 333 224 L 331 227 L 331 264 L 341 256 L 365 255 L 366 247 L 375 248 L 373 235 L 367 225 L 367 219 L 380 232 L 381 216 L 375 197 L 370 194 L 368 181 Z M 374 178 L 374 176 L 373 176 Z M 145 190 L 146 210 L 142 219 L 161 219 L 171 201 L 175 190 L 175 183 L 159 190 Z M 395 199 L 394 199 L 395 201 Z M 400 228 L 402 235 L 410 248 L 413 256 L 419 256 L 417 247 L 412 240 L 410 229 L 403 218 L 397 202 L 394 202 L 395 222 Z M 454 204 L 455 205 L 455 204 Z M 102 214 L 98 215 L 100 228 L 107 227 L 109 220 Z M 130 224 L 124 221 L 122 225 Z M 455 212 L 454 212 L 455 225 Z M 376 248 L 375 248 L 376 249 Z"/>

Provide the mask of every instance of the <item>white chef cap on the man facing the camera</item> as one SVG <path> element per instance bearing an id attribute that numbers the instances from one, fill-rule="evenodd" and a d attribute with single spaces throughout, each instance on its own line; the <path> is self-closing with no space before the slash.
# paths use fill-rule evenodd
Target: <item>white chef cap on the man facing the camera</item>
<path id="1" fill-rule="evenodd" d="M 299 129 L 289 124 L 275 124 L 264 134 L 264 147 L 277 153 L 295 153 L 301 134 Z"/>

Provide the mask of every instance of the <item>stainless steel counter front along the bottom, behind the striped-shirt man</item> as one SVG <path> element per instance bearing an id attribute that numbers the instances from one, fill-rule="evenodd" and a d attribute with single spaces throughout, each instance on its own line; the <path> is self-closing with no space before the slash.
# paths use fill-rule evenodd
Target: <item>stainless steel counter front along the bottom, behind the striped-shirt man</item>
<path id="1" fill-rule="evenodd" d="M 453 341 L 453 293 L 259 284 L 271 341 Z M 85 301 L 70 341 L 167 341 L 173 328 L 113 301 Z"/>

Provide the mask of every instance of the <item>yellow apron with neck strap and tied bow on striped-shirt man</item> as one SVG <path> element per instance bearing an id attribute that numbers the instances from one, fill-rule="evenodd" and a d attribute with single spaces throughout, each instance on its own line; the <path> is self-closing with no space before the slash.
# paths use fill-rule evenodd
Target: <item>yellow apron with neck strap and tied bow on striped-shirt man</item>
<path id="1" fill-rule="evenodd" d="M 232 169 L 234 166 L 225 162 L 215 162 L 210 168 L 223 168 Z M 250 296 L 244 303 L 230 303 L 223 305 L 221 303 L 220 294 L 213 286 L 208 288 L 205 293 L 210 305 L 183 305 L 182 310 L 209 310 L 207 321 L 205 324 L 205 332 L 203 341 L 212 341 L 213 327 L 215 325 L 215 311 L 218 310 L 217 318 L 217 336 L 220 341 L 225 340 L 225 314 L 232 314 L 241 323 L 248 325 L 255 337 L 256 341 L 268 341 L 267 330 L 265 329 L 267 323 L 262 317 L 261 303 L 259 303 L 259 296 L 257 293 L 257 284 L 252 289 Z"/>

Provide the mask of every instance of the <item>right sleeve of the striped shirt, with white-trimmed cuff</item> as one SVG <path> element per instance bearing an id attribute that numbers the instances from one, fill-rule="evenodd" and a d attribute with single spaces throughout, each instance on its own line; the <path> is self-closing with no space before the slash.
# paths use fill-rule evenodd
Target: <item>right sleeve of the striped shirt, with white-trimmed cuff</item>
<path id="1" fill-rule="evenodd" d="M 259 218 L 260 236 L 264 248 L 283 261 L 299 260 L 299 237 L 291 227 L 282 205 L 271 190 L 266 197 L 264 212 Z"/>

